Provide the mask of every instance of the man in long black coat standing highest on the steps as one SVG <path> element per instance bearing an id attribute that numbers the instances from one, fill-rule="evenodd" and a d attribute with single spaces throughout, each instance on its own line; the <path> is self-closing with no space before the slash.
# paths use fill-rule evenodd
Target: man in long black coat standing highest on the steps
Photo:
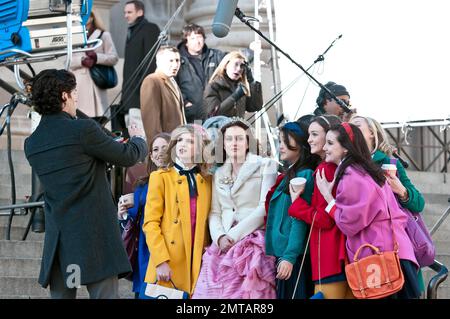
<path id="1" fill-rule="evenodd" d="M 144 14 L 145 7 L 141 1 L 128 1 L 125 4 L 124 16 L 128 23 L 128 31 L 123 65 L 121 111 L 112 122 L 113 128 L 121 131 L 126 131 L 125 115 L 128 114 L 129 109 L 140 108 L 142 81 L 156 69 L 156 60 L 153 59 L 150 64 L 146 63 L 141 66 L 139 72 L 133 75 L 144 57 L 158 41 L 161 32 L 156 24 L 145 19 Z M 153 52 L 156 53 L 156 50 Z"/>

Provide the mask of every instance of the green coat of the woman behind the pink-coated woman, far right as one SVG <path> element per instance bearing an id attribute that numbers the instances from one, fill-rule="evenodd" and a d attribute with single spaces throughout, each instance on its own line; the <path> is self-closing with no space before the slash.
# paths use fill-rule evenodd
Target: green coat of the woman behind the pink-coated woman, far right
<path id="1" fill-rule="evenodd" d="M 380 166 L 390 163 L 389 156 L 381 151 L 376 151 L 372 155 L 372 158 L 373 161 Z M 403 186 L 407 189 L 409 197 L 407 202 L 399 201 L 399 203 L 404 208 L 407 208 L 414 213 L 422 212 L 425 206 L 425 200 L 423 199 L 422 194 L 414 187 L 413 183 L 411 183 L 411 181 L 409 180 L 408 176 L 406 175 L 405 168 L 403 167 L 402 163 L 400 163 L 400 161 L 397 161 L 397 174 L 400 182 L 402 182 Z"/>

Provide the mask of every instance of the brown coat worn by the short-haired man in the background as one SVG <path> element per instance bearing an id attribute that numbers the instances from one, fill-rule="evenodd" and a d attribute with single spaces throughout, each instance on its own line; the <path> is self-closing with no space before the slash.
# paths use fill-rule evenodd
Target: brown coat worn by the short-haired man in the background
<path id="1" fill-rule="evenodd" d="M 180 89 L 158 70 L 142 82 L 141 115 L 147 141 L 158 133 L 171 133 L 186 123 Z"/>

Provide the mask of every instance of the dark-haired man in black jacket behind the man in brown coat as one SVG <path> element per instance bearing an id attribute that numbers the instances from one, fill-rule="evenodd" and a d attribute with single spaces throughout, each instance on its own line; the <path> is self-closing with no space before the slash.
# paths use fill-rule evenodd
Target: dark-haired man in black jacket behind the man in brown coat
<path id="1" fill-rule="evenodd" d="M 183 40 L 178 44 L 181 66 L 176 80 L 184 99 L 184 112 L 188 123 L 205 120 L 203 91 L 225 52 L 210 49 L 205 44 L 203 27 L 191 23 L 183 28 Z"/>

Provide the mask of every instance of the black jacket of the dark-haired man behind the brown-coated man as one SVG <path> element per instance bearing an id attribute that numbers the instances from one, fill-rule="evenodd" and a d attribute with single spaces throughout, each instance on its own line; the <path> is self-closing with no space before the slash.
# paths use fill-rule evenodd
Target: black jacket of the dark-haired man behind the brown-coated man
<path id="1" fill-rule="evenodd" d="M 176 80 L 183 94 L 184 104 L 192 103 L 191 107 L 185 107 L 184 109 L 186 120 L 188 123 L 192 123 L 194 120 L 204 120 L 207 117 L 207 112 L 203 107 L 203 91 L 226 53 L 216 49 L 209 49 L 205 44 L 201 59 L 204 78 L 202 81 L 189 62 L 189 53 L 184 42 L 178 44 L 178 50 L 180 50 L 181 65 Z"/>

